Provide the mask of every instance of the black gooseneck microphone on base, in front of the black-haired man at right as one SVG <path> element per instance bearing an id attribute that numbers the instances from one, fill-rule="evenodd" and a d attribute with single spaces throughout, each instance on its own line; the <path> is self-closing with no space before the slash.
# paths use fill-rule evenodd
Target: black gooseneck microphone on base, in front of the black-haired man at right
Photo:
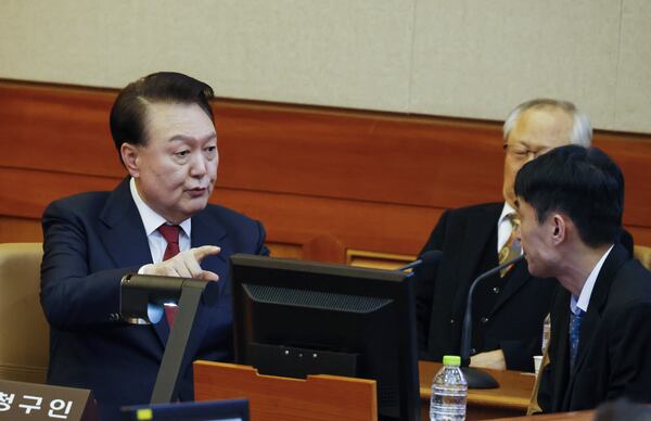
<path id="1" fill-rule="evenodd" d="M 518 256 L 507 263 L 494 267 L 493 269 L 480 275 L 470 285 L 468 291 L 468 301 L 465 302 L 465 316 L 463 317 L 463 327 L 461 331 L 461 366 L 465 381 L 468 382 L 468 388 L 495 388 L 499 387 L 499 384 L 493 377 L 484 371 L 468 367 L 470 365 L 470 340 L 472 337 L 472 294 L 474 293 L 475 286 L 484 279 L 499 272 L 501 269 L 514 265 L 522 260 L 524 255 Z"/>

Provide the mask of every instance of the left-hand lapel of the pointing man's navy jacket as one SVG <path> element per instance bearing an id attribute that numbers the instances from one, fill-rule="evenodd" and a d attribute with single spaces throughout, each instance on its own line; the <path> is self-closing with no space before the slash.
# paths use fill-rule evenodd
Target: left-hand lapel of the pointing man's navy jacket
<path id="1" fill-rule="evenodd" d="M 113 258 L 115 267 L 135 267 L 138 270 L 141 266 L 152 263 L 152 253 L 144 232 L 144 225 L 133 197 L 131 197 L 129 177 L 124 179 L 111 193 L 100 214 L 100 219 L 105 227 L 102 242 Z M 152 324 L 152 329 L 164 347 L 169 336 L 167 321 L 163 319 L 161 322 Z"/>

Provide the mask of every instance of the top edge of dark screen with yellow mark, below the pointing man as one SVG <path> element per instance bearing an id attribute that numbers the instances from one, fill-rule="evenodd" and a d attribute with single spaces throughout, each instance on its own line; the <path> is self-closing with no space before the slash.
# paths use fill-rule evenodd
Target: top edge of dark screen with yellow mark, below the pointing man
<path id="1" fill-rule="evenodd" d="M 124 421 L 248 421 L 248 400 L 225 399 L 122 408 Z"/>

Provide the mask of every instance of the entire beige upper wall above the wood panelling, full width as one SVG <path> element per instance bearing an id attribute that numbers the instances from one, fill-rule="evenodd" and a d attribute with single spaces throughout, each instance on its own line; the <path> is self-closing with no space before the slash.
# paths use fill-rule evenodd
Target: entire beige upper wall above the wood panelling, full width
<path id="1" fill-rule="evenodd" d="M 0 0 L 0 78 L 123 87 L 159 69 L 219 97 L 502 119 L 566 98 L 651 131 L 647 0 Z"/>

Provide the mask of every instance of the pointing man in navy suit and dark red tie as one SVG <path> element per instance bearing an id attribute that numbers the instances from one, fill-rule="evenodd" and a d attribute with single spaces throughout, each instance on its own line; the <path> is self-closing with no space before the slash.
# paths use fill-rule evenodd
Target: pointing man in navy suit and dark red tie
<path id="1" fill-rule="evenodd" d="M 266 254 L 265 231 L 208 204 L 219 162 L 212 97 L 209 86 L 176 73 L 127 86 L 111 111 L 111 131 L 129 177 L 112 192 L 59 200 L 44 212 L 48 382 L 91 388 L 102 419 L 149 403 L 174 321 L 174 308 L 153 326 L 120 320 L 127 273 L 218 282 L 218 303 L 199 308 L 175 399 L 193 399 L 192 360 L 232 357 L 228 257 Z"/>

